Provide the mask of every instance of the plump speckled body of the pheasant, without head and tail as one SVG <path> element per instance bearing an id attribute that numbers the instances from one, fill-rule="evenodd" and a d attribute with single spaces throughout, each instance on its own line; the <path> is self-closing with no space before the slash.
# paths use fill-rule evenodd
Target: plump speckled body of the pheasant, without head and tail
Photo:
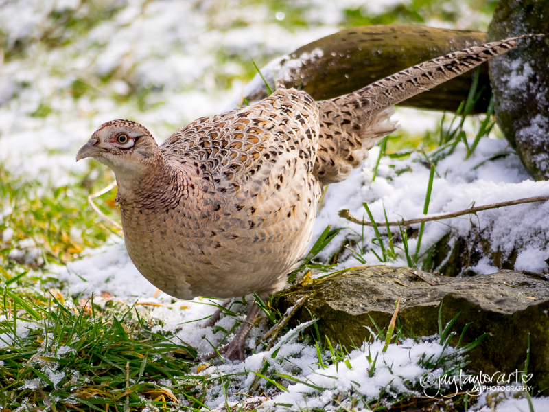
<path id="1" fill-rule="evenodd" d="M 181 299 L 277 290 L 310 237 L 317 144 L 316 104 L 293 90 L 178 130 L 152 171 L 175 172 L 169 189 L 154 176 L 163 192 L 153 204 L 149 191 L 119 196 L 132 261 Z"/>

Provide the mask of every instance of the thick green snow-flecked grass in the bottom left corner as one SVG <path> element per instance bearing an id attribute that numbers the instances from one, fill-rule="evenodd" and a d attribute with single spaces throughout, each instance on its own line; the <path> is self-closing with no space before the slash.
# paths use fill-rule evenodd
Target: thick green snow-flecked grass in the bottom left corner
<path id="1" fill-rule="evenodd" d="M 0 347 L 9 348 L 0 355 L 5 408 L 128 410 L 196 392 L 187 377 L 196 352 L 152 332 L 154 321 L 135 306 L 100 307 L 93 297 L 75 304 L 56 290 L 13 286 L 2 288 L 0 311 Z"/>

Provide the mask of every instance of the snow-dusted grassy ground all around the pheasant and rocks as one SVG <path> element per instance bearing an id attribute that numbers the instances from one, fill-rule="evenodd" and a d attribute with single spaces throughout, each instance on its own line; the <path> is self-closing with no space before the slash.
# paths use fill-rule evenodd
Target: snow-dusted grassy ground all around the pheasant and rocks
<path id="1" fill-rule="evenodd" d="M 229 339 L 253 298 L 234 302 L 215 327 L 200 329 L 200 319 L 211 315 L 218 301 L 174 301 L 157 294 L 130 262 L 120 233 L 87 205 L 87 196 L 113 175 L 93 162 L 75 163 L 74 157 L 106 120 L 135 119 L 162 141 L 196 117 L 220 113 L 239 100 L 255 74 L 250 56 L 261 67 L 351 25 L 484 30 L 494 7 L 495 1 L 474 0 L 0 5 L 0 406 L 12 412 L 344 411 L 382 410 L 388 404 L 464 409 L 465 398 L 431 400 L 419 387 L 423 374 L 463 365 L 440 336 L 405 336 L 397 330 L 386 352 L 383 336 L 347 352 L 309 325 L 283 329 L 267 349 L 267 341 L 257 344 L 272 327 L 264 317 L 246 342 L 250 356 L 244 363 L 193 362 L 196 352 Z M 451 117 L 439 128 L 441 114 L 397 111 L 402 129 L 388 138 L 384 153 L 377 146 L 364 168 L 328 187 L 313 242 L 327 226 L 341 230 L 296 273 L 298 282 L 303 275 L 309 279 L 308 269 L 318 276 L 362 261 L 377 264 L 381 242 L 384 263 L 409 264 L 405 236 L 412 265 L 432 271 L 445 262 L 429 260 L 430 251 L 447 235 L 454 239 L 450 245 L 459 238 L 469 242 L 472 260 L 459 273 L 496 270 L 493 260 L 475 254 L 483 236 L 494 253 L 520 248 L 513 267 L 547 271 L 545 204 L 428 223 L 417 259 L 419 225 L 403 232 L 392 228 L 395 236 L 388 236 L 384 209 L 389 220 L 423 214 L 432 163 L 430 213 L 549 193 L 547 183 L 528 179 L 513 150 L 494 139 L 494 132 L 490 139 L 488 133 L 476 139 L 484 117 L 467 119 L 450 137 L 447 131 L 459 124 L 457 119 L 449 127 Z M 95 202 L 116 220 L 114 196 L 109 192 Z M 379 235 L 338 216 L 340 209 L 349 209 L 368 220 L 364 202 Z M 270 306 L 266 310 L 275 321 L 283 315 Z M 379 325 L 382 332 L 387 327 Z M 476 408 L 491 410 L 498 397 L 481 397 Z M 515 410 L 515 404 L 527 411 L 528 402 L 510 397 L 498 411 Z M 531 404 L 538 412 L 548 409 L 544 398 Z"/>

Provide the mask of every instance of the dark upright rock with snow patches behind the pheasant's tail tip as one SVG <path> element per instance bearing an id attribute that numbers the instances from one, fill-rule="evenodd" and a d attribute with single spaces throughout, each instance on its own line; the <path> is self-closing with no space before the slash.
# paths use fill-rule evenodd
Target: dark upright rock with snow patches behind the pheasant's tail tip
<path id="1" fill-rule="evenodd" d="M 548 0 L 500 0 L 487 34 L 489 41 L 549 33 Z M 495 119 L 536 180 L 549 180 L 549 38 L 521 41 L 489 62 Z"/>

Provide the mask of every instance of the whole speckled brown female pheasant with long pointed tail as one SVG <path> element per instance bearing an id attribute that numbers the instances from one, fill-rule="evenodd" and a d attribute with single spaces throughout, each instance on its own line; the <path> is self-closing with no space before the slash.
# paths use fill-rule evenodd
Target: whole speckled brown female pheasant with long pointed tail
<path id="1" fill-rule="evenodd" d="M 347 178 L 397 129 L 393 106 L 517 45 L 487 43 L 410 67 L 355 93 L 315 102 L 281 89 L 202 117 L 160 147 L 130 120 L 102 124 L 85 157 L 116 175 L 124 241 L 139 271 L 168 295 L 266 297 L 305 253 L 322 186 Z M 254 305 L 224 348 L 244 359 Z"/>

